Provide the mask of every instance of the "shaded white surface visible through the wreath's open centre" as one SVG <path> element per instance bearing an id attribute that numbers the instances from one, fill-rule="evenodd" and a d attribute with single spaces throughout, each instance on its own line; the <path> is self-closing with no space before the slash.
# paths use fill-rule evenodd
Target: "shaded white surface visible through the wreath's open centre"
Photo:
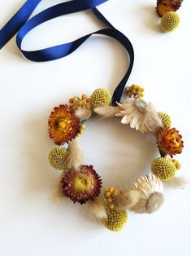
<path id="1" fill-rule="evenodd" d="M 98 127 L 95 137 L 89 131 L 93 126 Z M 98 168 L 103 187 L 132 184 L 150 172 L 150 163 L 158 153 L 152 135 L 143 135 L 128 125 L 122 125 L 120 118 L 95 118 L 89 122 L 85 133 L 81 141 L 85 161 Z"/>

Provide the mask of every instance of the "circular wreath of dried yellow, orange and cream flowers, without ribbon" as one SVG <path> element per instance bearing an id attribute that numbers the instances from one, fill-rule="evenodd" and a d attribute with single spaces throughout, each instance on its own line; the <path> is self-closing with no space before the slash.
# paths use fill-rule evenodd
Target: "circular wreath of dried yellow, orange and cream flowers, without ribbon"
<path id="1" fill-rule="evenodd" d="M 115 232 L 124 227 L 127 210 L 139 214 L 158 210 L 164 201 L 163 183 L 170 180 L 168 183 L 177 187 L 184 181 L 175 177 L 180 162 L 173 159 L 182 152 L 182 136 L 171 128 L 167 113 L 156 112 L 152 104 L 142 99 L 143 91 L 140 86 L 128 86 L 124 104 L 111 106 L 110 92 L 98 88 L 89 98 L 75 96 L 69 99 L 69 104 L 55 107 L 49 117 L 50 138 L 58 145 L 51 150 L 49 161 L 54 169 L 62 170 L 56 198 L 66 196 L 81 205 L 87 202 L 89 214 Z M 160 157 L 151 163 L 152 172 L 139 178 L 130 188 L 106 188 L 101 194 L 101 177 L 93 166 L 82 164 L 77 137 L 84 132 L 85 121 L 95 116 L 122 117 L 122 124 L 129 124 L 142 133 L 150 132 L 156 138 Z"/>

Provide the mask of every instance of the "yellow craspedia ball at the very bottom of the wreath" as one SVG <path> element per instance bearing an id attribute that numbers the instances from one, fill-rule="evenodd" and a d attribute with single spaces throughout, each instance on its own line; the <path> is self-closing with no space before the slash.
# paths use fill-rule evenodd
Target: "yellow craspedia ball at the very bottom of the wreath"
<path id="1" fill-rule="evenodd" d="M 107 218 L 103 219 L 102 222 L 106 228 L 114 232 L 119 232 L 128 220 L 126 210 L 118 211 L 107 209 L 106 214 Z"/>

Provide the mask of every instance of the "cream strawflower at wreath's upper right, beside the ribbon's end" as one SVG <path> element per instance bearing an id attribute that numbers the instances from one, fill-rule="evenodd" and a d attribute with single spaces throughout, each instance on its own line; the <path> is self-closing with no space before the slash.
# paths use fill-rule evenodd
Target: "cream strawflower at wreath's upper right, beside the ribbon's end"
<path id="1" fill-rule="evenodd" d="M 143 99 L 134 99 L 128 104 L 119 104 L 122 110 L 116 114 L 123 117 L 122 124 L 130 124 L 131 128 L 140 130 L 142 133 L 150 131 L 156 133 L 162 126 L 162 121 L 151 104 Z"/>

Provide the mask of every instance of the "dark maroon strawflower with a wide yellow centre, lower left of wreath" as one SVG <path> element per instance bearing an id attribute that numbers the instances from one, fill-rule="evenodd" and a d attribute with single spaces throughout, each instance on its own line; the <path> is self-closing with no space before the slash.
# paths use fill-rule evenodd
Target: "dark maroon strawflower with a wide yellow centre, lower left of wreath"
<path id="1" fill-rule="evenodd" d="M 93 166 L 80 166 L 78 170 L 68 170 L 62 184 L 63 194 L 81 205 L 98 196 L 102 188 L 102 180 L 93 170 Z"/>

